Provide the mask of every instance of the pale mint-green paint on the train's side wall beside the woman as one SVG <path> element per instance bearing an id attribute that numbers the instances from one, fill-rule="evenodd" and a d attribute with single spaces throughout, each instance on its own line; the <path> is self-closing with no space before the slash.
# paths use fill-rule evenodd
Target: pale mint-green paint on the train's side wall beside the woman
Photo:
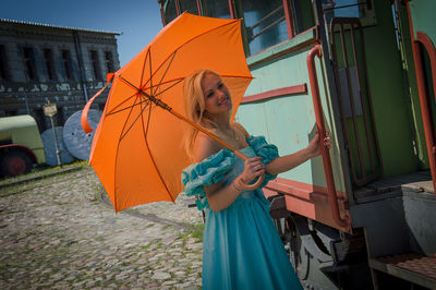
<path id="1" fill-rule="evenodd" d="M 311 90 L 306 64 L 307 52 L 311 48 L 289 52 L 261 64 L 257 62 L 263 58 L 281 55 L 283 51 L 292 49 L 301 43 L 311 40 L 313 37 L 315 37 L 315 34 L 312 31 L 306 32 L 280 46 L 255 56 L 256 59 L 250 58 L 249 63 L 252 64 L 251 71 L 255 78 L 252 81 L 246 95 L 300 84 L 307 84 L 307 88 Z M 319 60 L 316 59 L 315 61 L 318 77 L 323 80 L 324 73 Z M 325 86 L 322 83 L 319 90 L 322 96 L 326 95 Z M 335 129 L 330 129 L 331 106 L 326 98 L 323 98 L 323 107 L 327 113 L 327 128 L 329 128 L 334 136 Z M 306 147 L 316 132 L 311 92 L 241 105 L 237 114 L 237 121 L 241 122 L 251 134 L 265 135 L 269 142 L 279 147 L 280 155 L 291 154 Z M 336 186 L 338 190 L 344 191 L 339 152 L 335 144 L 331 148 L 331 159 L 335 168 Z M 280 177 L 326 186 L 320 157 L 282 173 Z"/>

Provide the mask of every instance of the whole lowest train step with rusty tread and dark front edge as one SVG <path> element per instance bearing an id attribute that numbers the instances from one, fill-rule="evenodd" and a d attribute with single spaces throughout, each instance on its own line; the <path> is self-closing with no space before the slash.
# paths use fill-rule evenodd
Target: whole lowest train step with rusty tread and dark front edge
<path id="1" fill-rule="evenodd" d="M 370 259 L 370 267 L 412 283 L 436 289 L 436 256 L 400 254 Z"/>

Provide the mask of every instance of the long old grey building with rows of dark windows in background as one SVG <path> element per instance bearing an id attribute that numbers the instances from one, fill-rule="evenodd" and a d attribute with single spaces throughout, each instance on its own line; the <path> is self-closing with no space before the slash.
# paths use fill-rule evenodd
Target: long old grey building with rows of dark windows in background
<path id="1" fill-rule="evenodd" d="M 118 35 L 0 19 L 0 117 L 31 114 L 43 132 L 51 128 L 43 110 L 50 100 L 63 125 L 119 69 Z M 107 94 L 94 109 L 102 110 Z"/>

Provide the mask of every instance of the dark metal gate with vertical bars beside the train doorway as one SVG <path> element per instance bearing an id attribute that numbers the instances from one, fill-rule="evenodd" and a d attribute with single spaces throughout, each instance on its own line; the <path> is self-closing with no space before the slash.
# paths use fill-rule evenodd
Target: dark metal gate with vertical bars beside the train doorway
<path id="1" fill-rule="evenodd" d="M 335 39 L 335 29 L 336 27 L 339 26 L 339 36 L 340 40 L 339 44 Z M 348 51 L 348 46 L 347 46 L 347 40 L 346 40 L 346 28 L 349 27 L 350 29 L 350 38 L 351 38 L 351 51 Z M 366 65 L 366 56 L 365 56 L 365 41 L 363 37 L 363 28 L 362 25 L 359 21 L 359 19 L 349 19 L 349 17 L 334 17 L 330 23 L 329 27 L 329 34 L 330 34 L 330 45 L 331 45 L 331 58 L 334 60 L 334 70 L 336 74 L 336 82 L 337 82 L 337 87 L 338 87 L 338 94 L 339 94 L 339 109 L 340 109 L 340 114 L 341 114 L 341 122 L 343 126 L 343 134 L 346 136 L 347 141 L 347 147 L 348 147 L 348 155 L 349 155 L 349 160 L 350 160 L 350 166 L 351 166 L 351 173 L 353 181 L 356 185 L 361 186 L 364 185 L 373 180 L 376 180 L 377 178 L 380 177 L 382 174 L 382 158 L 380 158 L 380 153 L 379 153 L 379 142 L 377 138 L 377 133 L 376 133 L 376 126 L 375 126 L 375 120 L 374 120 L 374 112 L 373 112 L 373 104 L 372 104 L 372 96 L 371 96 L 371 89 L 370 89 L 370 84 L 368 84 L 368 72 L 367 72 L 367 65 Z M 356 44 L 356 37 L 361 39 L 361 45 L 360 45 L 360 50 L 362 51 L 362 59 L 359 59 L 358 57 L 358 44 Z M 339 51 L 337 49 L 337 46 L 341 48 L 342 56 L 338 56 Z M 349 61 L 349 57 L 352 57 L 352 60 L 354 61 L 355 65 L 355 72 L 358 75 L 358 81 L 356 81 L 356 92 L 353 92 L 353 85 L 352 85 L 352 77 L 351 77 L 351 71 L 352 71 L 352 65 Z M 339 69 L 339 58 L 342 58 L 343 60 L 343 69 L 346 71 L 346 81 L 343 82 L 340 80 L 340 69 Z M 363 72 L 363 74 L 361 73 Z M 361 83 L 363 81 L 363 83 Z M 342 92 L 341 88 L 344 87 L 347 92 Z M 364 89 L 363 89 L 364 88 Z M 343 94 L 346 93 L 346 94 Z M 346 116 L 346 98 L 347 96 L 349 97 L 349 104 L 351 107 L 351 120 L 352 120 L 352 129 L 354 133 L 348 132 L 347 130 L 347 116 Z M 353 96 L 358 95 L 358 100 L 354 100 Z M 354 104 L 356 101 L 356 104 Z M 360 109 L 361 108 L 361 109 Z M 364 140 L 361 140 L 359 134 L 359 125 L 358 125 L 358 111 L 361 110 L 361 114 L 364 121 Z M 373 132 L 373 133 L 372 133 Z M 355 160 L 355 157 L 351 153 L 351 143 L 352 138 L 354 140 L 356 144 L 356 150 L 358 150 L 358 160 Z M 372 143 L 374 142 L 375 147 L 373 148 Z M 367 173 L 365 169 L 365 158 L 364 158 L 364 147 L 366 147 L 370 158 L 371 164 L 371 172 Z M 376 166 L 376 162 L 379 165 L 378 168 Z M 358 177 L 358 168 L 360 170 L 360 177 Z"/>

